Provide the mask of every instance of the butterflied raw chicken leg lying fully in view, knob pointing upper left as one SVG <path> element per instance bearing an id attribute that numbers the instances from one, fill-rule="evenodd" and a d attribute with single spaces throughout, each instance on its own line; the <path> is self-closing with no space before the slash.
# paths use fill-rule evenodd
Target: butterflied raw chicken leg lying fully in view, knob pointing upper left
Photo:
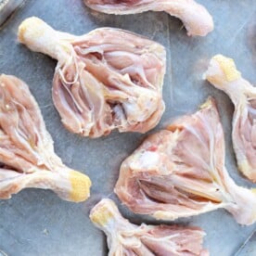
<path id="1" fill-rule="evenodd" d="M 34 17 L 20 24 L 19 42 L 58 59 L 53 100 L 70 132 L 90 137 L 114 129 L 146 133 L 160 122 L 162 45 L 111 28 L 75 36 Z"/>

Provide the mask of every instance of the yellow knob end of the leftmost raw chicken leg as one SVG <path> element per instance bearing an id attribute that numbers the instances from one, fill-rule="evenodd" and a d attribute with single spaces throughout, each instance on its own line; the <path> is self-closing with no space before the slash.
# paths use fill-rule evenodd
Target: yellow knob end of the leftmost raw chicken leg
<path id="1" fill-rule="evenodd" d="M 90 197 L 90 187 L 92 185 L 88 176 L 76 171 L 70 172 L 70 200 L 81 202 Z"/>

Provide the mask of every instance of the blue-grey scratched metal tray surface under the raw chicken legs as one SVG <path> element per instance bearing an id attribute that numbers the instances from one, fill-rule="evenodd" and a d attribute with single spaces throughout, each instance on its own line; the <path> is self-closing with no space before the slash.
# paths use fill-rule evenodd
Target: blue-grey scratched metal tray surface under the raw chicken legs
<path id="1" fill-rule="evenodd" d="M 163 89 L 166 111 L 155 130 L 176 116 L 196 110 L 207 96 L 214 96 L 224 123 L 230 175 L 239 185 L 251 186 L 237 173 L 231 147 L 232 103 L 222 92 L 203 82 L 201 76 L 209 58 L 223 53 L 236 59 L 245 78 L 256 82 L 256 1 L 198 2 L 208 7 L 215 21 L 214 32 L 204 38 L 187 37 L 181 29 L 182 23 L 165 13 L 108 16 L 91 12 L 81 0 L 27 0 L 6 22 L 0 30 L 0 72 L 14 74 L 30 85 L 58 155 L 72 168 L 88 173 L 93 187 L 91 198 L 80 204 L 62 201 L 50 191 L 36 189 L 23 190 L 9 200 L 0 200 L 0 250 L 14 256 L 106 255 L 106 237 L 90 223 L 88 212 L 100 198 L 115 198 L 112 189 L 119 166 L 145 137 L 145 134 L 112 133 L 92 140 L 70 134 L 63 128 L 51 99 L 56 61 L 32 53 L 16 39 L 20 21 L 30 16 L 40 17 L 63 32 L 82 34 L 97 27 L 112 26 L 141 33 L 165 45 L 168 56 Z M 136 224 L 157 223 L 147 216 L 134 215 L 125 207 L 121 210 Z M 205 247 L 211 255 L 222 256 L 234 255 L 256 227 L 238 225 L 222 210 L 176 223 L 201 226 L 207 232 Z M 255 253 L 250 251 L 244 255 Z"/>

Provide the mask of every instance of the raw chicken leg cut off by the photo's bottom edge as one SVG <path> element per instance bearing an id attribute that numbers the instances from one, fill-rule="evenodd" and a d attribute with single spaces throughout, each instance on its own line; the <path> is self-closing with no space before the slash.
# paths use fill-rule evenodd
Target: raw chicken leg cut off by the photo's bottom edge
<path id="1" fill-rule="evenodd" d="M 131 224 L 110 199 L 98 202 L 90 219 L 107 235 L 109 256 L 209 255 L 202 249 L 205 233 L 200 228 Z"/>

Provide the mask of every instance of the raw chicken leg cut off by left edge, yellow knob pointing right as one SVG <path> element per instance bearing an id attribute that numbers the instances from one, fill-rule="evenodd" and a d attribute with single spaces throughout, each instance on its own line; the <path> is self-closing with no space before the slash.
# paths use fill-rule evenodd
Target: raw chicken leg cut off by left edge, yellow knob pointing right
<path id="1" fill-rule="evenodd" d="M 83 201 L 90 179 L 65 166 L 27 84 L 0 75 L 0 198 L 26 187 L 52 189 L 59 198 Z"/>

